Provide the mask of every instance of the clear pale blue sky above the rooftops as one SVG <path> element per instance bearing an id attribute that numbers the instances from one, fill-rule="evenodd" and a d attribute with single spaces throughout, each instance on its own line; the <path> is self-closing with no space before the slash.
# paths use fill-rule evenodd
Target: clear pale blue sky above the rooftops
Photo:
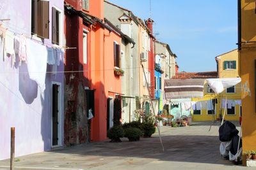
<path id="1" fill-rule="evenodd" d="M 150 0 L 109 0 L 141 19 L 150 17 Z M 237 48 L 237 1 L 151 0 L 159 41 L 177 55 L 179 71 L 216 71 L 214 57 Z"/>

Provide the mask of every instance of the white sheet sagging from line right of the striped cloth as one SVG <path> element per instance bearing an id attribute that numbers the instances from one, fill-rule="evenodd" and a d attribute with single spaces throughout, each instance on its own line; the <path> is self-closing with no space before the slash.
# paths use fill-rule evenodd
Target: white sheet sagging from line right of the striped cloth
<path id="1" fill-rule="evenodd" d="M 241 78 L 209 78 L 206 81 L 216 94 L 220 94 L 224 89 L 240 83 Z"/>

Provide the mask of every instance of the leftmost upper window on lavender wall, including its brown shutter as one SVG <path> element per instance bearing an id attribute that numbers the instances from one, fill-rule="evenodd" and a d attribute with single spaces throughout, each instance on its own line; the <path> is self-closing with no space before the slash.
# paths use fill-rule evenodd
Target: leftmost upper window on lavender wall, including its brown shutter
<path id="1" fill-rule="evenodd" d="M 49 1 L 31 1 L 31 34 L 49 38 Z"/>

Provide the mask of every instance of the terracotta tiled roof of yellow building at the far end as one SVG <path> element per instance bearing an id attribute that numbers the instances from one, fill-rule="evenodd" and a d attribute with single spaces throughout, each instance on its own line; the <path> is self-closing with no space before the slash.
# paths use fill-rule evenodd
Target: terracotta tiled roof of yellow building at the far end
<path id="1" fill-rule="evenodd" d="M 180 72 L 176 73 L 172 79 L 190 79 L 190 78 L 218 78 L 217 71 L 207 71 L 207 72 L 195 72 L 195 73 L 188 73 L 188 72 Z"/>

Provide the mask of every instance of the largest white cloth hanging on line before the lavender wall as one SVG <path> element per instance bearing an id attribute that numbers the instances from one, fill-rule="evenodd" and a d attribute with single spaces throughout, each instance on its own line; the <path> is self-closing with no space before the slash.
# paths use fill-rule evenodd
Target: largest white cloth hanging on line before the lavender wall
<path id="1" fill-rule="evenodd" d="M 41 94 L 44 97 L 45 75 L 47 69 L 47 49 L 44 45 L 36 43 L 29 39 L 27 42 L 27 64 L 28 73 L 31 80 L 35 80 L 40 87 Z"/>

